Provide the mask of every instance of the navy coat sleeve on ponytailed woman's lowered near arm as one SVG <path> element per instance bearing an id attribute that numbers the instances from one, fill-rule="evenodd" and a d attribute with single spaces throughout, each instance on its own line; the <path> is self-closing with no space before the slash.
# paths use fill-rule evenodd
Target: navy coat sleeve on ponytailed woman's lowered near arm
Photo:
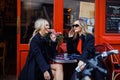
<path id="1" fill-rule="evenodd" d="M 50 69 L 50 65 L 46 62 L 41 49 L 40 49 L 40 41 L 39 40 L 32 40 L 30 44 L 30 51 L 32 55 L 35 57 L 35 60 L 42 72 Z"/>

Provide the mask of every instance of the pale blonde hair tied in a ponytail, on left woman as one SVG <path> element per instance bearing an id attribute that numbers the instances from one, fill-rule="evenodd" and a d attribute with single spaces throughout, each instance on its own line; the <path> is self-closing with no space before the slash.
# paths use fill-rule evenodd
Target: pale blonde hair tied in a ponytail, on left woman
<path id="1" fill-rule="evenodd" d="M 47 23 L 48 23 L 48 21 L 46 19 L 43 19 L 43 18 L 37 19 L 35 21 L 35 24 L 34 24 L 35 30 L 33 31 L 33 34 L 32 34 L 32 37 L 30 38 L 30 41 L 42 28 L 45 28 Z"/>

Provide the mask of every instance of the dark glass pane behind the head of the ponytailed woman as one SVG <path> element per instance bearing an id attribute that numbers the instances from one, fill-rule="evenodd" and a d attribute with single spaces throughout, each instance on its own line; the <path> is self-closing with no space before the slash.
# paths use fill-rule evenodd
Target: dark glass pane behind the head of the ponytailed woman
<path id="1" fill-rule="evenodd" d="M 53 0 L 21 1 L 21 43 L 28 43 L 34 30 L 34 22 L 45 18 L 53 28 Z"/>

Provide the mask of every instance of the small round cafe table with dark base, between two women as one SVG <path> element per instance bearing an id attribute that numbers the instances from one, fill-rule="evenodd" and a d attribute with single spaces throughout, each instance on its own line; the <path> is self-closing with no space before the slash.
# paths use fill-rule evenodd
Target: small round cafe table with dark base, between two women
<path id="1" fill-rule="evenodd" d="M 63 70 L 64 70 L 64 80 L 71 80 L 72 74 L 74 69 L 77 66 L 78 60 L 75 57 L 76 55 L 67 55 L 66 57 L 64 54 L 56 55 L 55 58 L 52 58 L 52 61 L 55 63 L 62 63 L 63 64 Z"/>

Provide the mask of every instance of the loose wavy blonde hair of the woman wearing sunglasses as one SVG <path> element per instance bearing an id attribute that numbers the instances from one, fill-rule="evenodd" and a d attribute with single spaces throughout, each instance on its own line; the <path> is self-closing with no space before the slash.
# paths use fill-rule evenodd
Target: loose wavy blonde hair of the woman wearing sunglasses
<path id="1" fill-rule="evenodd" d="M 83 20 L 76 20 L 76 21 L 78 21 L 79 23 L 79 25 L 80 25 L 80 27 L 82 28 L 82 31 L 81 31 L 81 34 L 83 34 L 83 35 L 87 35 L 87 34 L 92 34 L 89 30 L 88 30 L 88 26 L 87 26 L 87 24 L 86 24 L 86 22 L 85 21 L 83 21 Z M 76 22 L 76 21 L 74 21 L 74 22 Z M 77 34 L 78 33 L 75 33 L 75 35 L 74 35 L 74 39 L 77 37 Z"/>

